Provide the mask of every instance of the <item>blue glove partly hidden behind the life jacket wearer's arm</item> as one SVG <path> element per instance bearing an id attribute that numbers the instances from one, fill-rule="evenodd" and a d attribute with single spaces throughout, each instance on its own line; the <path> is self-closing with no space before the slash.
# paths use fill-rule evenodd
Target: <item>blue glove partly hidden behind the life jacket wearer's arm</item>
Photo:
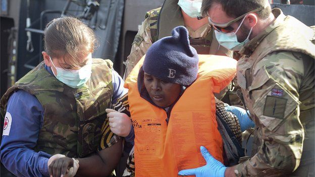
<path id="1" fill-rule="evenodd" d="M 248 114 L 246 113 L 246 110 L 237 106 L 225 106 L 225 110 L 232 112 L 234 115 L 237 116 L 238 121 L 241 125 L 241 130 L 244 132 L 246 129 L 255 127 L 254 122 L 249 119 Z"/>

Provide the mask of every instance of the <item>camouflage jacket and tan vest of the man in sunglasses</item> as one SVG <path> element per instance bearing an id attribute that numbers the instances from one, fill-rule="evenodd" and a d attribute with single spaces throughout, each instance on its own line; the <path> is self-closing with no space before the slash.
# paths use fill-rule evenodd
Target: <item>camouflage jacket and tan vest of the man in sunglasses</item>
<path id="1" fill-rule="evenodd" d="M 257 131 L 236 176 L 314 172 L 314 31 L 272 12 L 276 20 L 240 51 L 237 81 Z"/>

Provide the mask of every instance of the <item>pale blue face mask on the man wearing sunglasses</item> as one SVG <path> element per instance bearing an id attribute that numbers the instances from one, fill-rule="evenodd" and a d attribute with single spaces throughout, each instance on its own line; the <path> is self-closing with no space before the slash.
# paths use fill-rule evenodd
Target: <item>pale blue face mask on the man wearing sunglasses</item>
<path id="1" fill-rule="evenodd" d="M 236 33 L 238 32 L 238 30 L 240 29 L 240 27 L 242 26 L 245 20 L 245 17 L 243 18 L 242 22 L 240 23 L 240 25 L 238 26 L 235 32 L 222 33 L 215 30 L 216 38 L 218 42 L 220 43 L 220 45 L 230 50 L 239 51 L 247 42 L 249 42 L 249 35 L 251 34 L 252 27 L 250 28 L 247 38 L 243 42 L 238 42 L 237 36 L 236 36 Z"/>

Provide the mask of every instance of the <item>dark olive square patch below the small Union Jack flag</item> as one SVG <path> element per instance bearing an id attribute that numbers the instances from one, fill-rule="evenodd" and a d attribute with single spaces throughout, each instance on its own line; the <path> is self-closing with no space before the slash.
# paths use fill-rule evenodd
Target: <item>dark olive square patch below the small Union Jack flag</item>
<path id="1" fill-rule="evenodd" d="M 284 119 L 287 99 L 275 96 L 267 96 L 264 107 L 264 115 Z M 268 108 L 268 109 L 266 109 Z"/>

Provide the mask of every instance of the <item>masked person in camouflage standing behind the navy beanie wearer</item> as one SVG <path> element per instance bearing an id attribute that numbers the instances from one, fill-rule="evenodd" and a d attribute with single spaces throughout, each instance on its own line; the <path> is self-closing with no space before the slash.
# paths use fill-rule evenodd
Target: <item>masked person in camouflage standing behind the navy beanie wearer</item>
<path id="1" fill-rule="evenodd" d="M 124 63 L 126 66 L 124 79 L 127 78 L 152 43 L 169 36 L 172 29 L 177 26 L 185 26 L 187 28 L 190 44 L 197 50 L 198 54 L 216 54 L 232 57 L 233 52 L 218 43 L 215 31 L 208 24 L 207 18 L 201 18 L 200 8 L 201 1 L 199 0 L 165 0 L 162 8 L 148 11 L 134 38 L 127 61 Z M 231 87 L 232 85 L 228 86 L 220 94 L 216 93 L 216 97 L 229 104 L 242 105 L 235 93 L 236 90 L 228 92 L 228 95 L 224 97 L 228 89 L 232 89 Z"/>

